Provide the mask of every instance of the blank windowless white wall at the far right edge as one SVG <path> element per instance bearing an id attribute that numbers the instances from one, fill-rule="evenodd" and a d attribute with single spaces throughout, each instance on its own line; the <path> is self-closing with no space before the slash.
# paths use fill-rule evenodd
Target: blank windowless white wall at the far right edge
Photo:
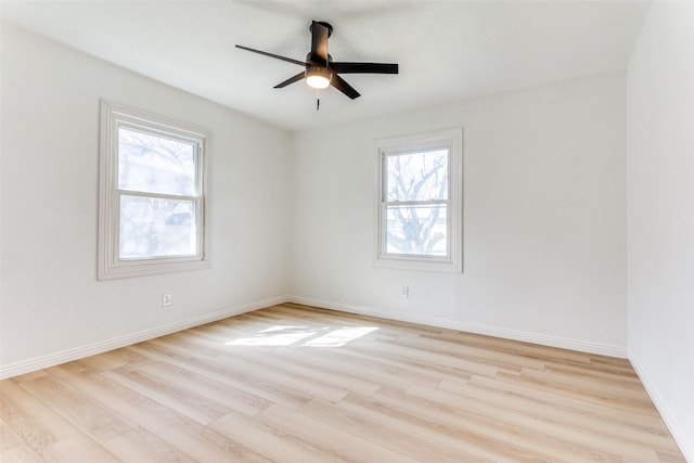
<path id="1" fill-rule="evenodd" d="M 629 358 L 694 462 L 694 3 L 657 1 L 628 68 Z"/>

